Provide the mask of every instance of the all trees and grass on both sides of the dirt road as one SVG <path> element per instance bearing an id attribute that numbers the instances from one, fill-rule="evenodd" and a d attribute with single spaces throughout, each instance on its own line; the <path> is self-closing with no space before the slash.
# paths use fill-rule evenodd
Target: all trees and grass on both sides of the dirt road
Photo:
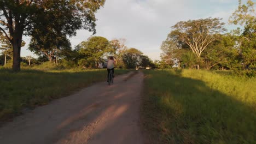
<path id="1" fill-rule="evenodd" d="M 177 22 L 154 62 L 122 38 L 91 36 L 72 47 L 78 29 L 96 33 L 104 3 L 0 1 L 0 121 L 106 80 L 99 68 L 113 56 L 116 74 L 158 69 L 144 71 L 143 123 L 152 141 L 256 143 L 255 2 L 238 0 L 229 24 L 240 26 L 230 32 L 219 17 Z M 20 56 L 26 45 L 36 57 Z"/>

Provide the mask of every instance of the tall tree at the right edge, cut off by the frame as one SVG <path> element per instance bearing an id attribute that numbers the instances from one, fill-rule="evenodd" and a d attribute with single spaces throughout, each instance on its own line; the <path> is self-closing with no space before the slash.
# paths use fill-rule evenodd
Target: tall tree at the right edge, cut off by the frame
<path id="1" fill-rule="evenodd" d="M 242 63 L 244 68 L 256 69 L 256 16 L 255 2 L 248 0 L 243 4 L 238 0 L 238 8 L 229 19 L 230 23 L 245 26 L 238 40 Z"/>

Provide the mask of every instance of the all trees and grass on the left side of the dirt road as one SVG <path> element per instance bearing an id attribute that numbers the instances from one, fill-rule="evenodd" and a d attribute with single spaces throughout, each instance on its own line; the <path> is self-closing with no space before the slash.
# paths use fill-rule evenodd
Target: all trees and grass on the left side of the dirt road
<path id="1" fill-rule="evenodd" d="M 72 47 L 69 38 L 78 29 L 96 33 L 95 13 L 104 3 L 0 1 L 0 121 L 106 80 L 106 70 L 100 68 L 107 67 L 110 56 L 116 61 L 115 74 L 153 64 L 141 51 L 127 47 L 125 39 L 93 35 Z M 31 40 L 22 40 L 22 35 Z M 21 47 L 33 56 L 21 57 Z"/>

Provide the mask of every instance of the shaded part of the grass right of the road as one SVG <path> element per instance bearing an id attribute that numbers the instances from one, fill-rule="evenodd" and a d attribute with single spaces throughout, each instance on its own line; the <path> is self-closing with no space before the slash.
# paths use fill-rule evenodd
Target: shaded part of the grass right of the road
<path id="1" fill-rule="evenodd" d="M 252 106 L 203 81 L 182 77 L 181 72 L 152 71 L 150 75 L 145 80 L 149 91 L 144 110 L 155 126 L 147 127 L 158 131 L 162 142 L 256 143 Z"/>

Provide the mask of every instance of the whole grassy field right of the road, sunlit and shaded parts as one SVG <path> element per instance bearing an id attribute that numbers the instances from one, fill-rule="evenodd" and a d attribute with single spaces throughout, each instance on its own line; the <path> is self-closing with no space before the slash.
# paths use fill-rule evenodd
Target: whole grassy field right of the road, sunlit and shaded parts
<path id="1" fill-rule="evenodd" d="M 156 143 L 256 143 L 256 77 L 144 73 L 143 124 Z"/>

